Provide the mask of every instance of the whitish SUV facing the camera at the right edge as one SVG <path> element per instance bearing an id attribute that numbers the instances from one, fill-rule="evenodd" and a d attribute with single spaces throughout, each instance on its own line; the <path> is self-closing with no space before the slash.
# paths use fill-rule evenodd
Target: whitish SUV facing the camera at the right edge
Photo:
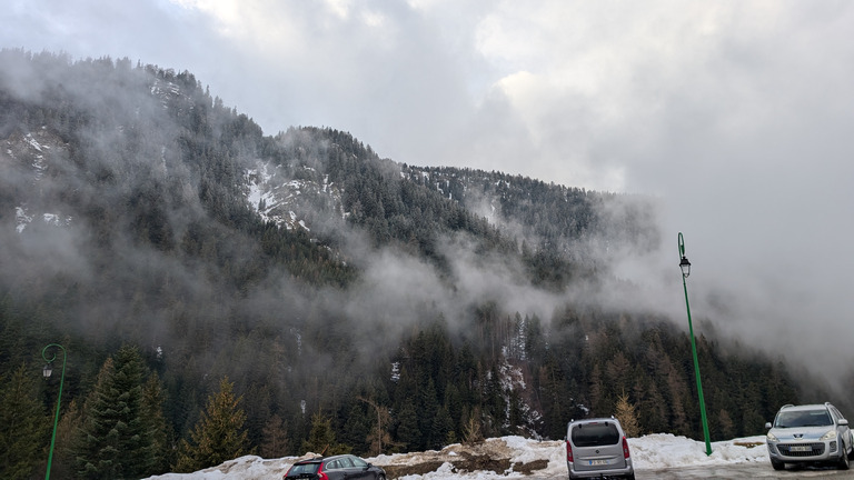
<path id="1" fill-rule="evenodd" d="M 850 468 L 854 456 L 848 421 L 831 403 L 783 406 L 774 423 L 765 423 L 768 457 L 774 470 L 786 463 L 832 463 Z"/>

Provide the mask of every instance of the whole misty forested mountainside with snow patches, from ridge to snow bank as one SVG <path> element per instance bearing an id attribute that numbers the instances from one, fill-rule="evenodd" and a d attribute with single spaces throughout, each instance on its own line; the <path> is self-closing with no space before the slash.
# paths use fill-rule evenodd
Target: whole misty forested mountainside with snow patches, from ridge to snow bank
<path id="1" fill-rule="evenodd" d="M 637 434 L 702 437 L 682 319 L 596 296 L 632 289 L 609 260 L 658 244 L 647 199 L 265 136 L 128 59 L 3 50 L 0 143 L 3 478 L 43 462 L 53 342 L 62 477 L 558 439 L 617 403 Z M 822 398 L 733 347 L 698 339 L 713 439 Z"/>

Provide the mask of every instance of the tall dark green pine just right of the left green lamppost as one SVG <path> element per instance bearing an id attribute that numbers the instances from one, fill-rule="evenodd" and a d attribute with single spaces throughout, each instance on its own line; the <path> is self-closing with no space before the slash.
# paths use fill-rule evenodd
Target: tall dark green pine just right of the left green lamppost
<path id="1" fill-rule="evenodd" d="M 76 448 L 79 477 L 116 479 L 150 472 L 155 450 L 143 418 L 145 378 L 142 358 L 133 347 L 122 347 L 103 363 L 83 408 Z"/>

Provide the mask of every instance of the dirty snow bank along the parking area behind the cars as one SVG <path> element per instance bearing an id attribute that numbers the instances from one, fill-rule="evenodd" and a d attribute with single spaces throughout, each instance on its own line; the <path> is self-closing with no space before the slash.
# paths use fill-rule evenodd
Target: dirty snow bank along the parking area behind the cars
<path id="1" fill-rule="evenodd" d="M 706 456 L 705 443 L 669 433 L 649 434 L 628 440 L 635 470 L 657 470 L 673 467 L 722 466 L 727 463 L 768 462 L 765 437 L 747 437 L 712 443 L 712 454 Z M 509 460 L 505 471 L 461 471 L 454 467 L 457 460 L 488 456 L 491 459 Z M 310 456 L 309 456 L 310 457 Z M 211 467 L 195 473 L 167 473 L 150 477 L 149 480 L 260 480 L 281 478 L 294 461 L 301 457 L 262 459 L 241 457 L 219 467 Z M 406 471 L 415 466 L 438 466 L 430 471 L 398 477 L 401 480 L 497 480 L 524 478 L 525 464 L 536 467 L 530 476 L 563 478 L 566 476 L 566 450 L 563 441 L 537 441 L 522 437 L 503 437 L 486 440 L 474 448 L 459 443 L 441 451 L 397 453 L 366 459 L 384 467 Z M 506 462 L 505 462 L 506 463 Z"/>

